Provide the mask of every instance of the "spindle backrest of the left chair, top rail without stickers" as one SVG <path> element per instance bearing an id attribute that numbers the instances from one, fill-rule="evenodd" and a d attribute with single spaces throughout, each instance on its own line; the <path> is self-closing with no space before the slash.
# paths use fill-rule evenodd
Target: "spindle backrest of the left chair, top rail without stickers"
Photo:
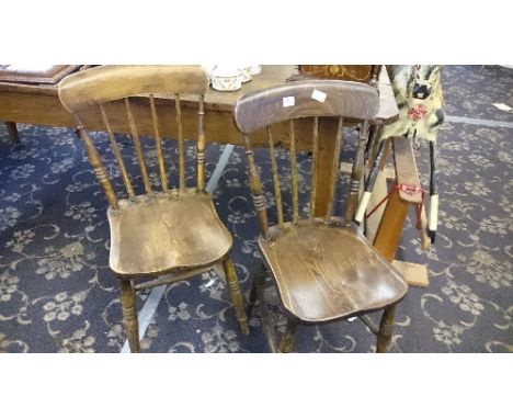
<path id="1" fill-rule="evenodd" d="M 101 66 L 81 72 L 70 75 L 59 83 L 59 99 L 66 110 L 73 114 L 77 131 L 84 143 L 89 160 L 96 173 L 96 177 L 105 191 L 109 204 L 113 208 L 118 207 L 116 193 L 111 180 L 105 171 L 98 148 L 94 146 L 83 124 L 88 111 L 102 116 L 112 152 L 116 158 L 119 172 L 123 177 L 126 192 L 130 199 L 135 197 L 134 186 L 123 161 L 119 147 L 114 137 L 112 120 L 119 125 L 119 113 L 125 123 L 129 126 L 140 174 L 146 194 L 153 193 L 148 175 L 148 168 L 145 161 L 144 149 L 139 138 L 139 131 L 136 124 L 136 114 L 151 115 L 152 137 L 158 159 L 160 183 L 162 190 L 168 192 L 170 186 L 168 173 L 162 152 L 162 129 L 163 118 L 171 118 L 172 115 L 162 115 L 161 110 L 156 104 L 155 94 L 172 93 L 174 98 L 174 124 L 178 133 L 179 151 L 179 185 L 178 190 L 185 190 L 185 147 L 184 129 L 182 123 L 182 97 L 184 94 L 197 98 L 197 143 L 196 143 L 196 188 L 203 191 L 205 188 L 205 133 L 204 133 L 204 95 L 208 89 L 208 77 L 201 66 Z M 116 103 L 115 114 L 107 116 L 109 104 Z M 141 103 L 149 112 L 140 111 Z M 122 106 L 122 107 L 121 107 Z M 119 112 L 123 109 L 123 112 Z M 137 109 L 137 112 L 134 111 Z M 160 114 L 160 117 L 159 117 Z M 159 122 L 160 120 L 160 122 Z"/>

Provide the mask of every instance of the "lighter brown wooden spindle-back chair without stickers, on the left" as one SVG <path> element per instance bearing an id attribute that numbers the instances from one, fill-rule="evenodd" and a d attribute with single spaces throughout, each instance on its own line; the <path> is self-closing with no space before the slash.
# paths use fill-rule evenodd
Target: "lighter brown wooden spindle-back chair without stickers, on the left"
<path id="1" fill-rule="evenodd" d="M 89 161 L 109 200 L 110 265 L 121 281 L 123 319 L 133 352 L 139 351 L 136 291 L 185 280 L 218 263 L 223 263 L 240 328 L 249 332 L 242 293 L 228 254 L 232 237 L 205 191 L 204 94 L 207 88 L 207 75 L 200 66 L 104 66 L 68 76 L 59 84 L 60 101 L 73 114 Z M 174 109 L 155 98 L 162 93 L 174 94 Z M 184 100 L 185 94 L 193 99 Z M 168 99 L 166 103 L 169 102 Z M 186 188 L 185 182 L 182 102 L 184 106 L 197 107 L 195 188 Z M 96 106 L 103 116 L 128 199 L 116 197 L 99 150 L 88 134 L 84 121 L 91 106 Z M 144 120 L 138 125 L 136 116 Z M 168 182 L 162 152 L 162 127 L 166 125 L 169 131 L 170 121 L 175 121 L 178 132 L 176 188 Z M 128 174 L 114 137 L 116 126 L 126 123 L 130 126 L 144 194 L 135 193 L 134 178 Z M 152 128 L 161 191 L 151 188 L 139 138 L 148 128 Z"/>

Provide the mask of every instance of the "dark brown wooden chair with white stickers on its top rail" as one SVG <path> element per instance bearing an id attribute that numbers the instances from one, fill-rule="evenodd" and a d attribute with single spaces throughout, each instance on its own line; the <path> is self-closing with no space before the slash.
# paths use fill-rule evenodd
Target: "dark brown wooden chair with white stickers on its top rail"
<path id="1" fill-rule="evenodd" d="M 293 350 L 294 333 L 298 324 L 311 325 L 340 320 L 353 316 L 362 318 L 377 335 L 377 352 L 385 352 L 394 324 L 396 303 L 407 292 L 401 275 L 367 241 L 353 222 L 358 202 L 361 175 L 364 172 L 364 154 L 367 147 L 369 122 L 378 110 L 378 92 L 373 86 L 339 80 L 293 81 L 244 94 L 235 107 L 235 120 L 243 133 L 248 158 L 250 189 L 261 229 L 259 245 L 263 260 L 271 271 L 288 312 L 286 330 L 278 348 L 274 329 L 269 325 L 269 313 L 263 301 L 261 278 L 254 282 L 250 301 L 259 298 L 264 332 L 273 351 Z M 319 122 L 323 117 L 338 118 L 335 152 L 332 161 L 319 161 Z M 300 218 L 298 211 L 298 172 L 294 124 L 298 118 L 311 118 L 312 168 L 309 215 Z M 316 214 L 317 177 L 322 165 L 339 167 L 342 149 L 344 118 L 361 121 L 343 217 L 333 216 L 333 201 L 323 217 Z M 280 185 L 273 124 L 288 124 L 288 150 L 290 160 L 292 220 L 284 219 L 282 188 Z M 305 121 L 296 122 L 305 124 Z M 354 126 L 354 124 L 353 124 Z M 276 200 L 277 224 L 270 226 L 263 197 L 262 182 L 251 147 L 250 134 L 266 128 L 272 169 L 272 183 Z M 281 127 L 283 132 L 283 127 Z M 281 138 L 283 140 L 283 138 Z M 383 147 L 378 147 L 381 150 Z M 380 151 L 373 165 L 379 163 Z M 280 160 L 283 161 L 283 160 Z M 371 177 L 372 178 L 372 177 Z M 338 175 L 331 178 L 331 191 L 335 191 Z M 368 182 L 366 191 L 369 191 Z M 270 192 L 271 193 L 271 192 Z M 385 308 L 379 330 L 372 325 L 366 313 Z M 365 316 L 364 316 L 365 315 Z"/>

